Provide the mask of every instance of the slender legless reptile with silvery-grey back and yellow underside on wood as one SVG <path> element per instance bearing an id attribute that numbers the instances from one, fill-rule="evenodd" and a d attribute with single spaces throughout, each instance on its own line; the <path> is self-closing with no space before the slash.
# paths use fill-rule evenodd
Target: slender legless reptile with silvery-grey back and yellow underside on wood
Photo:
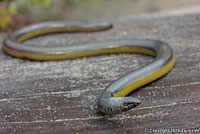
<path id="1" fill-rule="evenodd" d="M 116 114 L 132 109 L 141 103 L 133 97 L 125 97 L 133 90 L 168 73 L 175 63 L 172 48 L 156 40 L 111 40 L 65 47 L 26 46 L 23 41 L 54 32 L 94 32 L 111 28 L 109 23 L 80 23 L 68 21 L 44 22 L 29 25 L 7 36 L 3 49 L 10 55 L 32 60 L 64 60 L 88 56 L 138 53 L 155 57 L 155 60 L 116 80 L 103 91 L 97 101 L 104 114 Z"/>

